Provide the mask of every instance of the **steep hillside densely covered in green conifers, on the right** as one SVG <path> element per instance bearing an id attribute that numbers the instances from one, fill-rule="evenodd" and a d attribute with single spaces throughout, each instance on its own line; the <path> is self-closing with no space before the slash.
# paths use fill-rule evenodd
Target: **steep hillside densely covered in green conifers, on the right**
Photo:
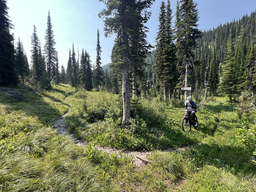
<path id="1" fill-rule="evenodd" d="M 203 32 L 195 50 L 195 89 L 205 85 L 212 92 L 232 92 L 230 98 L 246 90 L 255 95 L 255 23 L 256 12 L 252 12 Z M 232 74 L 233 79 L 228 79 L 228 74 Z M 232 90 L 225 90 L 226 81 L 232 82 Z"/>

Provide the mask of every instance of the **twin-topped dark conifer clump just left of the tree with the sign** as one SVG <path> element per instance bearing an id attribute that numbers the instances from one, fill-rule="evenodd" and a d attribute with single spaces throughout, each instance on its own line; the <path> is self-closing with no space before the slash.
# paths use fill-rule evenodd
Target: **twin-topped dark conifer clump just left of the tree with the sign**
<path id="1" fill-rule="evenodd" d="M 164 99 L 166 90 L 169 90 L 170 99 L 171 92 L 178 80 L 172 17 L 170 1 L 167 1 L 166 8 L 164 2 L 162 2 L 159 14 L 159 31 L 156 37 L 155 65 L 153 68 L 157 84 L 164 88 Z"/>

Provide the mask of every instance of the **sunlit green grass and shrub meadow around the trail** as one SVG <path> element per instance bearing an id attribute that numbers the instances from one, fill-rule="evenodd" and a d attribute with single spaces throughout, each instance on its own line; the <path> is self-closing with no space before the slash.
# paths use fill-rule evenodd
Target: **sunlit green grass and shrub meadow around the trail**
<path id="1" fill-rule="evenodd" d="M 129 125 L 121 129 L 120 95 L 65 84 L 22 94 L 28 101 L 0 92 L 0 191 L 255 191 L 254 113 L 238 118 L 227 98 L 209 98 L 198 108 L 198 129 L 184 133 L 179 101 L 132 100 Z M 72 109 L 65 122 L 89 146 L 52 128 L 69 109 L 67 94 Z M 150 162 L 136 167 L 123 150 L 150 151 Z"/>

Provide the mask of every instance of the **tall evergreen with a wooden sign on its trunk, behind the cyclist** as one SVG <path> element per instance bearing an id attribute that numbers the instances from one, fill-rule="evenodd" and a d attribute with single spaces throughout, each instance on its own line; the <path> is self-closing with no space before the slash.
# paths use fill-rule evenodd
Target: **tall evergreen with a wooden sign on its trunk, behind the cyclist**
<path id="1" fill-rule="evenodd" d="M 197 47 L 196 39 L 202 36 L 202 31 L 198 29 L 197 3 L 193 0 L 177 1 L 176 10 L 176 47 L 177 47 L 177 67 L 181 76 L 185 74 L 185 87 L 189 86 L 189 69 L 192 69 L 192 59 L 195 58 L 193 50 Z M 188 91 L 185 91 L 185 98 Z"/>

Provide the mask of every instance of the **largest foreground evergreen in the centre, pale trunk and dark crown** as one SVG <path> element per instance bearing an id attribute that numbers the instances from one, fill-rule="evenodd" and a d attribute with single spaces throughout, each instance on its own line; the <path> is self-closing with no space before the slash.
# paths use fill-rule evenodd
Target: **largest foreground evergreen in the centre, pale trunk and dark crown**
<path id="1" fill-rule="evenodd" d="M 148 21 L 150 12 L 148 12 L 147 9 L 152 5 L 154 0 L 100 0 L 100 2 L 103 2 L 107 7 L 107 9 L 103 9 L 99 13 L 100 17 L 105 18 L 105 36 L 116 33 L 117 38 L 120 39 L 119 42 L 121 42 L 122 47 L 122 128 L 124 128 L 131 116 L 129 87 L 129 37 L 132 38 L 134 28 L 138 28 Z M 142 15 L 143 11 L 144 14 Z M 146 36 L 144 36 L 144 38 L 146 38 Z"/>

